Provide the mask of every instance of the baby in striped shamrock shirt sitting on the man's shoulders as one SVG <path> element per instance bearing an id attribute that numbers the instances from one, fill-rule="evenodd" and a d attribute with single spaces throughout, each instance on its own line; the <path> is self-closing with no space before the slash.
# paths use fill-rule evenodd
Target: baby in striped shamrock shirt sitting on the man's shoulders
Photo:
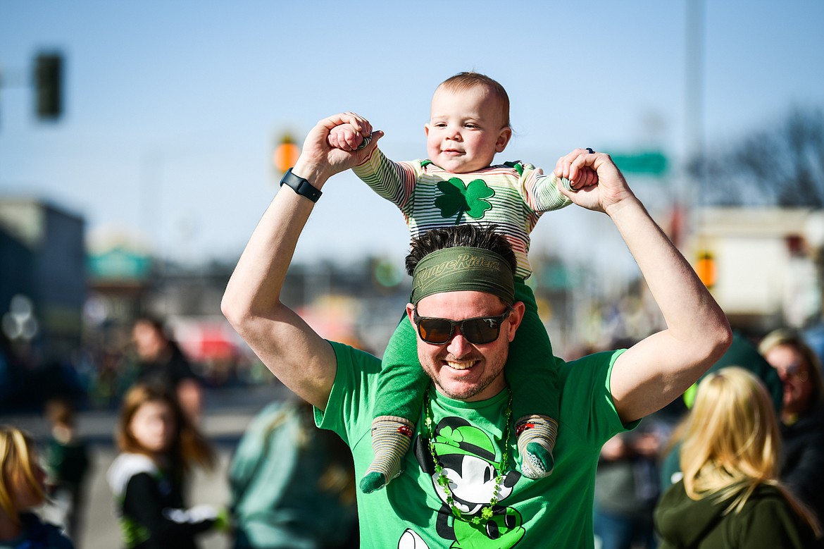
<path id="1" fill-rule="evenodd" d="M 435 90 L 424 130 L 427 160 L 392 162 L 375 148 L 353 171 L 400 208 L 411 237 L 460 223 L 495 224 L 512 245 L 517 258 L 515 300 L 525 303 L 527 312 L 510 346 L 506 372 L 513 392 L 521 472 L 529 478 L 541 478 L 549 475 L 555 464 L 552 451 L 558 431 L 558 373 L 535 296 L 524 282 L 531 275 L 527 251 L 530 232 L 541 213 L 570 204 L 558 185 L 574 189 L 569 181 L 551 173 L 544 175 L 531 164 L 491 165 L 495 153 L 506 148 L 512 129 L 507 92 L 485 75 L 458 73 L 442 82 Z M 372 126 L 365 119 L 360 120 L 360 127 L 342 124 L 330 132 L 329 144 L 356 150 L 368 143 L 371 132 Z M 581 186 L 594 180 L 594 173 L 588 171 Z M 423 334 L 422 339 L 426 340 Z M 428 342 L 447 345 L 448 340 Z M 364 492 L 380 489 L 400 475 L 428 382 L 418 362 L 414 328 L 404 319 L 383 356 L 372 423 L 375 459 L 359 483 Z"/>

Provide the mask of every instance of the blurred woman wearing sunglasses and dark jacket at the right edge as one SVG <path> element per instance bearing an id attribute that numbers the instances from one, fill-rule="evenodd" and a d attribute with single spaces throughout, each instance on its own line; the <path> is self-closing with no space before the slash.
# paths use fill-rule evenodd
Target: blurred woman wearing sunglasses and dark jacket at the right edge
<path id="1" fill-rule="evenodd" d="M 824 523 L 824 384 L 821 364 L 800 334 L 776 330 L 758 350 L 784 383 L 781 480 Z"/>

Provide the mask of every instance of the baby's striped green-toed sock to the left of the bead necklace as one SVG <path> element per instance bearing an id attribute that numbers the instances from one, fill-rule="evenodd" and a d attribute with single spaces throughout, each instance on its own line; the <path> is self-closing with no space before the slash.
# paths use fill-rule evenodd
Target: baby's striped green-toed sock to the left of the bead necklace
<path id="1" fill-rule="evenodd" d="M 358 486 L 364 494 L 380 490 L 403 470 L 404 456 L 410 449 L 414 424 L 395 415 L 372 420 L 372 452 L 375 458 Z"/>

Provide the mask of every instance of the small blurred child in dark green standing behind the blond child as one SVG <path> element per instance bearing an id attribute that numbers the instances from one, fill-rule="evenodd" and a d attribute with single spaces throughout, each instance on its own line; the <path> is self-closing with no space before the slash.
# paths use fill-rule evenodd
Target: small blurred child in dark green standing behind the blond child
<path id="1" fill-rule="evenodd" d="M 89 450 L 87 443 L 77 436 L 76 414 L 70 402 L 46 402 L 45 415 L 52 425 L 44 456 L 49 497 L 63 514 L 61 523 L 68 536 L 79 539 Z"/>

